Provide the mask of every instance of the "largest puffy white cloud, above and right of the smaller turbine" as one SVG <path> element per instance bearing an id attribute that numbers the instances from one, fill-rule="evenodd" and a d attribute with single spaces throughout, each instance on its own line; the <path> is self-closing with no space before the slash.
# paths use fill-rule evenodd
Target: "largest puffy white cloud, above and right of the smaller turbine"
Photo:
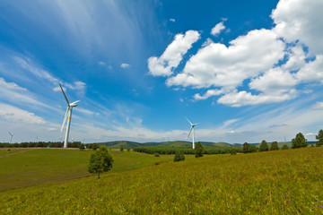
<path id="1" fill-rule="evenodd" d="M 167 85 L 235 89 L 244 80 L 265 73 L 284 57 L 284 42 L 272 30 L 251 30 L 230 45 L 212 43 L 202 47 L 182 73 L 167 80 Z"/>

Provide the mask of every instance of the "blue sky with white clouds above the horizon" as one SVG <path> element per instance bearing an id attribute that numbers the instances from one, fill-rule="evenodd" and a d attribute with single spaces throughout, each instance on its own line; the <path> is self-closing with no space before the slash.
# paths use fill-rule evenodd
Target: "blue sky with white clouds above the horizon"
<path id="1" fill-rule="evenodd" d="M 309 141 L 323 1 L 0 1 L 0 142 Z"/>

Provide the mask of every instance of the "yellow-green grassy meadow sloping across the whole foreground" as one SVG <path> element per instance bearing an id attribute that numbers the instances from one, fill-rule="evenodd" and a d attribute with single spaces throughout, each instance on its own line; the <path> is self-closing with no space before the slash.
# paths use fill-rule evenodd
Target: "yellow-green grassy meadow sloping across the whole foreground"
<path id="1" fill-rule="evenodd" d="M 6 190 L 0 214 L 323 213 L 323 147 L 186 158 Z"/>

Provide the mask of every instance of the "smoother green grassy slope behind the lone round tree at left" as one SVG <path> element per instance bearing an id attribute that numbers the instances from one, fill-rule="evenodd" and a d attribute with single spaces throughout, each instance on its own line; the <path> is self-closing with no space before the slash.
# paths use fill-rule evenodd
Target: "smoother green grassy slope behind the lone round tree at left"
<path id="1" fill-rule="evenodd" d="M 0 158 L 0 191 L 22 186 L 39 185 L 81 176 L 90 176 L 87 165 L 92 150 L 29 150 Z M 133 151 L 110 151 L 114 161 L 111 172 L 154 165 L 173 159 L 163 155 L 140 154 Z"/>

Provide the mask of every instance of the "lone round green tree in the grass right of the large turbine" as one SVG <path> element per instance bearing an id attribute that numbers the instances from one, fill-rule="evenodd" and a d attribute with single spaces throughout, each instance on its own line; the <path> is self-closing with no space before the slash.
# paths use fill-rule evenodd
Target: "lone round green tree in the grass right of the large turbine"
<path id="1" fill-rule="evenodd" d="M 109 151 L 105 145 L 101 145 L 99 150 L 95 150 L 91 154 L 89 160 L 88 171 L 90 173 L 98 173 L 98 178 L 100 178 L 100 173 L 108 172 L 112 168 L 113 159 L 109 155 Z"/>

